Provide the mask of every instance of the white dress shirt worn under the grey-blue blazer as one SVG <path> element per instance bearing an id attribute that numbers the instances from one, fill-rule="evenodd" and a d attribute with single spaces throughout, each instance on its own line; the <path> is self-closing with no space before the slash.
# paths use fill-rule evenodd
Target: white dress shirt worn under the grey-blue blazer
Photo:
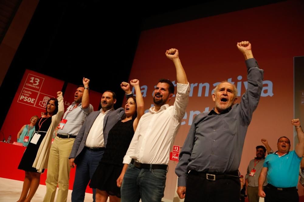
<path id="1" fill-rule="evenodd" d="M 97 116 L 95 119 L 87 140 L 85 141 L 85 146 L 86 147 L 104 147 L 105 146 L 105 141 L 103 138 L 103 120 L 105 118 L 105 115 L 110 111 L 106 111 L 105 113 L 102 112 L 102 109 L 100 110 L 100 114 Z"/>

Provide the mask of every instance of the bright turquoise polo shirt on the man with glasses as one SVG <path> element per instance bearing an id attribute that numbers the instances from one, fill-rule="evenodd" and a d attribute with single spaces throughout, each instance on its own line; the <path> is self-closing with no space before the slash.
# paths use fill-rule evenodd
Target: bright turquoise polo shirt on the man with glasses
<path id="1" fill-rule="evenodd" d="M 269 154 L 263 164 L 268 168 L 268 184 L 279 188 L 296 187 L 302 157 L 298 157 L 294 150 L 281 157 L 276 153 Z"/>

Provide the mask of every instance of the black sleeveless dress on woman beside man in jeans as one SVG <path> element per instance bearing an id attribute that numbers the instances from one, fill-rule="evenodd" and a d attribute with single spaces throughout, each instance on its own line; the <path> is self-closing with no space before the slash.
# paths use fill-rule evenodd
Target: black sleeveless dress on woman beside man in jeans
<path id="1" fill-rule="evenodd" d="M 118 121 L 109 131 L 105 153 L 89 184 L 91 188 L 121 197 L 120 187 L 117 187 L 116 180 L 123 170 L 123 157 L 134 135 L 133 121 Z"/>

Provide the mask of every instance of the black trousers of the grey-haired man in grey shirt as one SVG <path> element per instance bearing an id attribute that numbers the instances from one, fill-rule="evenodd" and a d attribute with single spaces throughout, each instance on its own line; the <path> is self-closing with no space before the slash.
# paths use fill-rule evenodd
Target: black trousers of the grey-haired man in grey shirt
<path id="1" fill-rule="evenodd" d="M 237 177 L 212 181 L 190 171 L 185 202 L 236 202 L 240 201 L 240 189 L 240 179 Z"/>

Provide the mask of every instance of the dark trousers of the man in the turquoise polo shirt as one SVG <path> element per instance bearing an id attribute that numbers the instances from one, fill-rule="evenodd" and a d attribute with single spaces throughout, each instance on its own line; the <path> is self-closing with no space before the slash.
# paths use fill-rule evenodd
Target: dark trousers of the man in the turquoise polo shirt
<path id="1" fill-rule="evenodd" d="M 281 202 L 281 201 L 288 201 L 288 202 L 299 202 L 299 194 L 296 188 L 287 189 L 287 190 L 277 190 L 273 187 L 268 185 L 265 186 L 264 192 L 266 194 L 265 202 Z"/>

